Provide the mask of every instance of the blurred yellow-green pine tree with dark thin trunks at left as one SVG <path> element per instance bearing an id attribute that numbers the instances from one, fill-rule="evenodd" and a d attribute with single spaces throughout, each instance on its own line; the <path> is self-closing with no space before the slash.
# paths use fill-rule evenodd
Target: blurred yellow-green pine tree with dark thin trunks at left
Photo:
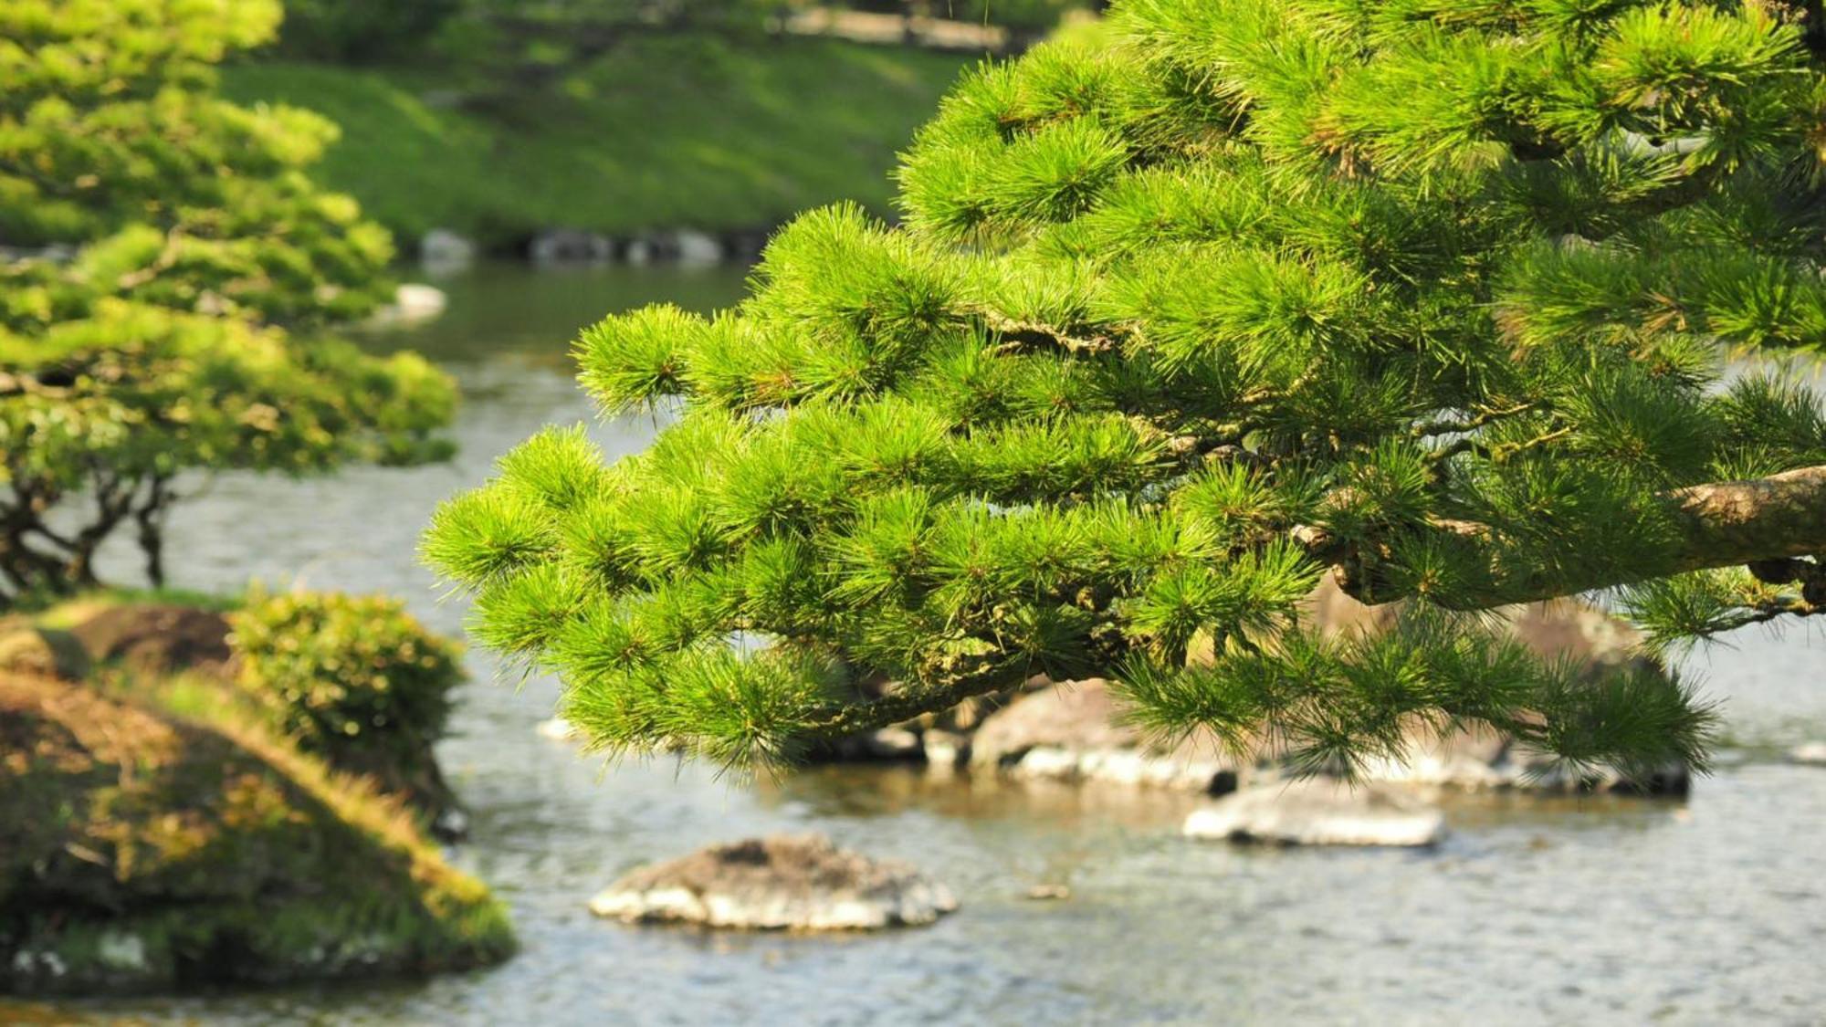
<path id="1" fill-rule="evenodd" d="M 270 0 L 0 4 L 0 603 L 93 583 L 133 523 L 159 581 L 184 468 L 440 450 L 442 375 L 281 333 L 373 311 L 393 250 L 303 172 L 334 126 L 212 91 L 212 64 L 278 18 Z"/>

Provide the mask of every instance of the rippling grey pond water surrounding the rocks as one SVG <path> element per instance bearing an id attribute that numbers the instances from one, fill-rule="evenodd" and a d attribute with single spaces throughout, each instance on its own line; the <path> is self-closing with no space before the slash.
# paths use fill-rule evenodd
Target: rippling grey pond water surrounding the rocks
<path id="1" fill-rule="evenodd" d="M 740 294 L 740 272 L 484 267 L 404 344 L 466 406 L 447 466 L 325 481 L 225 477 L 172 532 L 181 585 L 250 574 L 389 590 L 444 630 L 413 552 L 438 499 L 540 424 L 595 415 L 568 378 L 610 309 Z M 389 344 L 389 340 L 382 340 Z M 610 453 L 643 418 L 595 422 Z M 124 570 L 122 570 L 124 572 Z M 1744 632 L 1691 669 L 1746 746 L 1826 736 L 1826 645 Z M 473 815 L 458 863 L 513 905 L 524 950 L 431 981 L 55 1007 L 230 1023 L 1815 1023 L 1826 1014 L 1826 771 L 1764 751 L 1687 804 L 1455 800 L 1437 852 L 1194 844 L 1176 795 L 825 768 L 752 786 L 670 762 L 603 768 L 535 735 L 555 687 L 473 656 L 440 755 Z M 621 870 L 754 831 L 820 830 L 948 881 L 964 906 L 871 937 L 710 936 L 592 919 Z M 1070 899 L 1030 901 L 1035 884 Z M 37 1007 L 31 1014 L 42 1014 Z M 0 1022 L 27 1011 L 0 1007 Z"/>

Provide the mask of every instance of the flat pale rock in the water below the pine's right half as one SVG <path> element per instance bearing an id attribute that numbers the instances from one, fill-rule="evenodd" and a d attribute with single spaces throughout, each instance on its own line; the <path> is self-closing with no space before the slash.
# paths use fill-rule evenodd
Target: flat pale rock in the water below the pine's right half
<path id="1" fill-rule="evenodd" d="M 1185 833 L 1271 844 L 1428 846 L 1444 837 L 1446 821 L 1390 786 L 1309 778 L 1231 793 L 1187 817 Z"/>

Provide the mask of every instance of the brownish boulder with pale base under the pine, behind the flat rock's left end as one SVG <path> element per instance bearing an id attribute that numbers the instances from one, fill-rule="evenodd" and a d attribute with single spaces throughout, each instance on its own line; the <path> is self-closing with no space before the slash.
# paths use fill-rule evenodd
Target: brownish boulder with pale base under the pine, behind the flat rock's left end
<path id="1" fill-rule="evenodd" d="M 939 740 L 955 746 L 951 736 Z M 1174 747 L 1150 744 L 1123 722 L 1101 678 L 1030 691 L 992 713 L 970 740 L 970 766 L 1030 780 L 1108 780 L 1192 791 L 1234 788 L 1238 769 L 1220 757 L 1209 736 L 1192 736 Z"/>

